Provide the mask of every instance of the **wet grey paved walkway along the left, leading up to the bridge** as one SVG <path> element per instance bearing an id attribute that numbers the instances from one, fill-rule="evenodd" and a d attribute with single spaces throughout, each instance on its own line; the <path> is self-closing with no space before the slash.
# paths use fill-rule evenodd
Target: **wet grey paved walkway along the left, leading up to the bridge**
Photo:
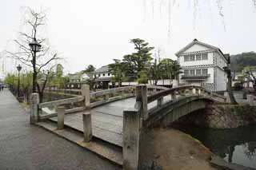
<path id="1" fill-rule="evenodd" d="M 0 92 L 0 169 L 120 169 L 45 129 L 5 89 Z"/>

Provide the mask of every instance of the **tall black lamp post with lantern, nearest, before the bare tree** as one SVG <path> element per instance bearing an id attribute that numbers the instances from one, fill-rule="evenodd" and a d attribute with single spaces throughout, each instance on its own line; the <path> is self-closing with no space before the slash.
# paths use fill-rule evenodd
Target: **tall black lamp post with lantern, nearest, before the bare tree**
<path id="1" fill-rule="evenodd" d="M 37 42 L 36 38 L 30 42 L 30 49 L 33 51 L 34 55 L 32 56 L 32 65 L 33 65 L 33 93 L 36 93 L 36 82 L 37 82 L 37 70 L 36 70 L 36 53 L 40 50 L 41 46 L 39 42 Z"/>

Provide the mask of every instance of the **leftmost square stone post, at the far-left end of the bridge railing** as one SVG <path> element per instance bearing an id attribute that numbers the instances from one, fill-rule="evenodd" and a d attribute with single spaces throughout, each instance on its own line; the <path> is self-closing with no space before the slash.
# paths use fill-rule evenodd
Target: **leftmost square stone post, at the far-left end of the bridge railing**
<path id="1" fill-rule="evenodd" d="M 38 93 L 32 93 L 30 96 L 30 124 L 35 124 L 38 122 L 38 103 Z"/>

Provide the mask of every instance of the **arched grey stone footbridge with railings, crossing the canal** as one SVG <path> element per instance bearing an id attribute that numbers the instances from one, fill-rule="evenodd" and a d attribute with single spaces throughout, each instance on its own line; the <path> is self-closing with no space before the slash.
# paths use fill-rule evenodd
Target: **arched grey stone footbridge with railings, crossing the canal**
<path id="1" fill-rule="evenodd" d="M 168 89 L 137 85 L 98 92 L 82 86 L 82 95 L 38 104 L 31 96 L 30 123 L 120 164 L 137 169 L 142 130 L 168 125 L 226 97 L 199 86 Z M 69 135 L 68 135 L 69 134 Z M 104 143 L 104 144 L 102 144 Z"/>

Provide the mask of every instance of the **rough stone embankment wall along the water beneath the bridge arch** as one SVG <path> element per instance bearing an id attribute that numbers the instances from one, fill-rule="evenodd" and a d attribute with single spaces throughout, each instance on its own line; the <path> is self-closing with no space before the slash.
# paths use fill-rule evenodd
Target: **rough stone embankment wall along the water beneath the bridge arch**
<path id="1" fill-rule="evenodd" d="M 238 128 L 256 125 L 256 106 L 250 105 L 209 105 L 181 117 L 177 123 L 198 125 L 204 128 Z"/>

